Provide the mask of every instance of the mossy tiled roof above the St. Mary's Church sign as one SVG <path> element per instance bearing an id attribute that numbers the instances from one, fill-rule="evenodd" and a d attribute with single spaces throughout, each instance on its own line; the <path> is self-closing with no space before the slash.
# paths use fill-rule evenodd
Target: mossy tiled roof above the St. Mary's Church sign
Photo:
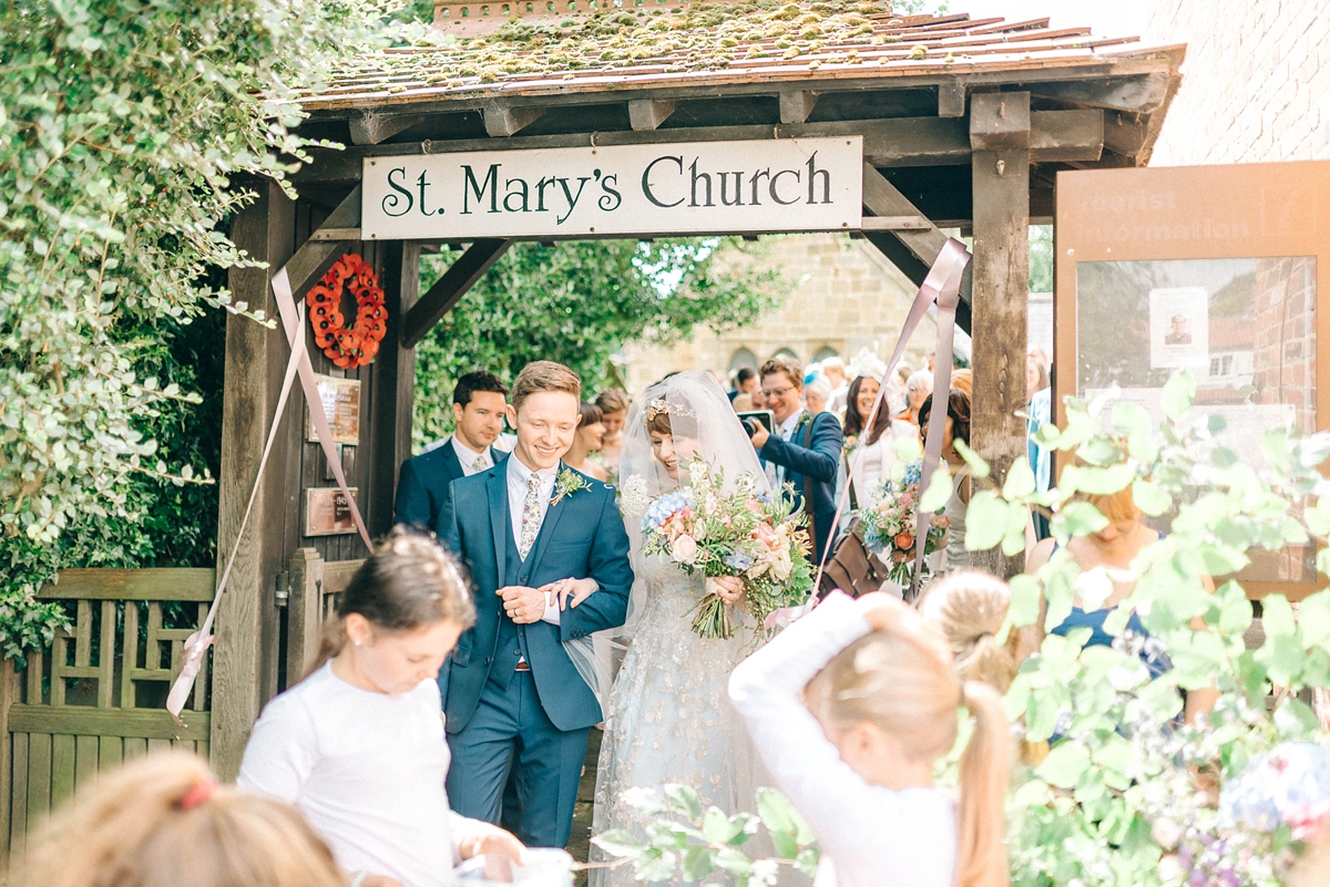
<path id="1" fill-rule="evenodd" d="M 1088 77 L 1161 52 L 1136 37 L 1051 29 L 1047 19 L 894 16 L 861 0 L 642 4 L 561 20 L 515 16 L 471 37 L 436 31 L 418 45 L 346 65 L 329 89 L 305 104 L 332 112 L 523 94 L 786 82 L 814 88 L 817 81 L 1048 68 L 1088 69 L 1072 74 Z M 472 8 L 479 12 L 480 5 Z"/>

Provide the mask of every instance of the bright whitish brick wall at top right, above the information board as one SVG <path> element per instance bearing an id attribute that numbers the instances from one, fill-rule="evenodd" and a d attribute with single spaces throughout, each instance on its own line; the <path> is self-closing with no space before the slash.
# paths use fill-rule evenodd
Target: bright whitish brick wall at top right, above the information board
<path id="1" fill-rule="evenodd" d="M 1188 44 L 1152 166 L 1330 159 L 1326 0 L 1152 0 L 1145 37 Z"/>

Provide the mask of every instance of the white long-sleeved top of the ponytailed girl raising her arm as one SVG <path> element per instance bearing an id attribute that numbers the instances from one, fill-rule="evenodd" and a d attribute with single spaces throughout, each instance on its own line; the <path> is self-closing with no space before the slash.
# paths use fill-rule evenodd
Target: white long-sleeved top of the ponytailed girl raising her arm
<path id="1" fill-rule="evenodd" d="M 822 847 L 814 887 L 951 887 L 956 806 L 935 786 L 892 790 L 864 782 L 841 760 L 799 693 L 868 623 L 831 595 L 730 676 L 775 786 L 803 814 Z"/>

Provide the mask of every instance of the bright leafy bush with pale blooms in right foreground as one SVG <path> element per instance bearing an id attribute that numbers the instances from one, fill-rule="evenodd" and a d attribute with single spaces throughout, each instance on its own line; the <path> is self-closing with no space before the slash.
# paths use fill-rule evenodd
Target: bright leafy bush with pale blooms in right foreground
<path id="1" fill-rule="evenodd" d="M 1283 767 L 1303 789 L 1330 781 L 1330 734 L 1299 698 L 1330 688 L 1330 591 L 1301 604 L 1265 596 L 1265 637 L 1248 649 L 1253 607 L 1232 576 L 1262 551 L 1294 566 L 1314 558 L 1327 572 L 1330 551 L 1315 554 L 1314 543 L 1330 532 L 1330 481 L 1319 471 L 1330 436 L 1267 428 L 1262 458 L 1244 459 L 1224 420 L 1193 412 L 1193 398 L 1190 374 L 1174 376 L 1157 428 L 1111 396 L 1068 398 L 1067 425 L 1045 426 L 1036 441 L 1077 459 L 1045 494 L 1024 459 L 999 490 L 988 466 L 964 453 L 976 483 L 987 482 L 970 502 L 967 548 L 1016 554 L 1027 509 L 1053 514 L 1059 548 L 1037 576 L 1012 580 L 1004 635 L 1037 623 L 1049 631 L 1085 596 L 1089 576 L 1067 543 L 1108 521 L 1073 494 L 1130 486 L 1146 519 L 1166 530 L 1119 578 L 1134 587 L 1105 624 L 1113 645 L 1085 647 L 1088 629 L 1049 633 L 1007 694 L 1032 752 L 1008 801 L 1015 886 L 1274 887 L 1326 818 L 1330 791 L 1281 793 L 1257 774 Z M 1149 639 L 1127 631 L 1132 613 Z M 1146 643 L 1166 649 L 1164 673 L 1142 663 Z M 1209 718 L 1181 722 L 1184 693 L 1212 686 L 1220 697 Z"/>

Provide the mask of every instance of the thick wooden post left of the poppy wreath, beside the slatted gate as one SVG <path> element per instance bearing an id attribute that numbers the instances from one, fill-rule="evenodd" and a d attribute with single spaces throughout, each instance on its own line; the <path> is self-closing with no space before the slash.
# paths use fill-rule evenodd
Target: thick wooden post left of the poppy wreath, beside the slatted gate
<path id="1" fill-rule="evenodd" d="M 235 216 L 231 239 L 267 268 L 231 268 L 230 291 L 237 301 L 277 316 L 269 287 L 273 271 L 293 251 L 294 203 L 275 182 L 259 181 L 258 198 Z M 293 280 L 294 283 L 294 280 Z M 267 471 L 254 499 L 245 536 L 241 518 L 258 477 L 277 398 L 274 380 L 286 369 L 289 351 L 281 329 L 269 329 L 247 317 L 226 321 L 226 384 L 222 394 L 222 465 L 218 479 L 218 568 L 233 548 L 235 566 L 217 613 L 213 648 L 213 717 L 210 754 L 213 770 L 225 781 L 235 778 L 250 728 L 263 701 L 277 692 L 278 613 L 273 607 L 273 576 L 285 568 L 281 546 L 270 543 L 265 527 L 285 521 L 281 471 Z M 290 422 L 298 410 L 281 421 Z M 297 420 L 299 421 L 299 420 Z M 282 436 L 286 440 L 289 436 Z M 281 465 L 274 453 L 271 465 Z M 186 714 L 188 718 L 188 714 Z"/>

